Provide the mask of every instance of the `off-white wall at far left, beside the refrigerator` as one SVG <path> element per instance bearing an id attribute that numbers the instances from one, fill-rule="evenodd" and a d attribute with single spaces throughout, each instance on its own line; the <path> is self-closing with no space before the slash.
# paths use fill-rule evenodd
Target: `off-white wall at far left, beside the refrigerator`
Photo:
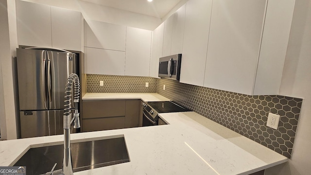
<path id="1" fill-rule="evenodd" d="M 9 13 L 8 13 L 9 11 Z M 14 100 L 15 61 L 14 54 L 17 46 L 16 22 L 10 21 L 15 17 L 15 1 L 0 0 L 0 129 L 1 139 L 17 138 L 16 108 Z M 14 20 L 16 21 L 16 20 Z M 15 23 L 15 28 L 14 28 Z M 9 28 L 12 26 L 12 31 Z M 10 30 L 11 30 L 10 29 Z M 15 35 L 10 37 L 10 35 Z M 14 38 L 16 40 L 14 40 Z M 10 41 L 12 39 L 12 41 Z M 6 127 L 2 127 L 5 123 Z"/>

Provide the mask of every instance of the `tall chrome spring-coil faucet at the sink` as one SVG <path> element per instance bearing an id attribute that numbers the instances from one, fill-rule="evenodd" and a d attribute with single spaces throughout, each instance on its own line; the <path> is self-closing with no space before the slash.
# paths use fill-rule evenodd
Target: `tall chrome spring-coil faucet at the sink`
<path id="1" fill-rule="evenodd" d="M 64 175 L 73 175 L 71 152 L 70 152 L 70 127 L 71 123 L 74 122 L 73 128 L 80 128 L 78 103 L 80 96 L 80 82 L 79 77 L 75 73 L 71 73 L 67 79 L 65 92 L 65 111 L 64 111 L 64 160 L 62 173 Z M 71 119 L 71 96 L 72 90 L 74 90 L 73 103 L 75 106 L 73 118 Z"/>

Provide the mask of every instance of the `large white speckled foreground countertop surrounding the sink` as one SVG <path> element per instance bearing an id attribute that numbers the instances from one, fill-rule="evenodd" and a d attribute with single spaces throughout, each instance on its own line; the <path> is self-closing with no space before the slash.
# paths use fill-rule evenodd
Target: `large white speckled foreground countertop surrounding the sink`
<path id="1" fill-rule="evenodd" d="M 71 134 L 71 142 L 123 135 L 130 158 L 130 162 L 74 174 L 248 175 L 288 161 L 195 112 L 159 115 L 169 124 Z M 0 166 L 12 166 L 31 147 L 62 143 L 63 135 L 0 141 Z"/>

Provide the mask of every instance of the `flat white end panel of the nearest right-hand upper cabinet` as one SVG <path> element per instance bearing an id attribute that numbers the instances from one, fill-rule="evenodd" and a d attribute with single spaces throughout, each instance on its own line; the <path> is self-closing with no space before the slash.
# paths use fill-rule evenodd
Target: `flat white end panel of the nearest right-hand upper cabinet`
<path id="1" fill-rule="evenodd" d="M 295 0 L 268 0 L 254 95 L 275 95 L 279 92 L 294 4 Z"/>

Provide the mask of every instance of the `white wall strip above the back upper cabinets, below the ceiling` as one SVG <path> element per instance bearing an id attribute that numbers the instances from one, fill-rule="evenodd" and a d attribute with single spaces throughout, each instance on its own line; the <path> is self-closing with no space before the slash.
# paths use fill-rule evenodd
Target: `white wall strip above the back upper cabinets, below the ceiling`
<path id="1" fill-rule="evenodd" d="M 98 20 L 123 26 L 154 30 L 162 23 L 160 18 L 124 11 L 82 0 L 25 0 L 80 11 L 87 20 Z"/>

